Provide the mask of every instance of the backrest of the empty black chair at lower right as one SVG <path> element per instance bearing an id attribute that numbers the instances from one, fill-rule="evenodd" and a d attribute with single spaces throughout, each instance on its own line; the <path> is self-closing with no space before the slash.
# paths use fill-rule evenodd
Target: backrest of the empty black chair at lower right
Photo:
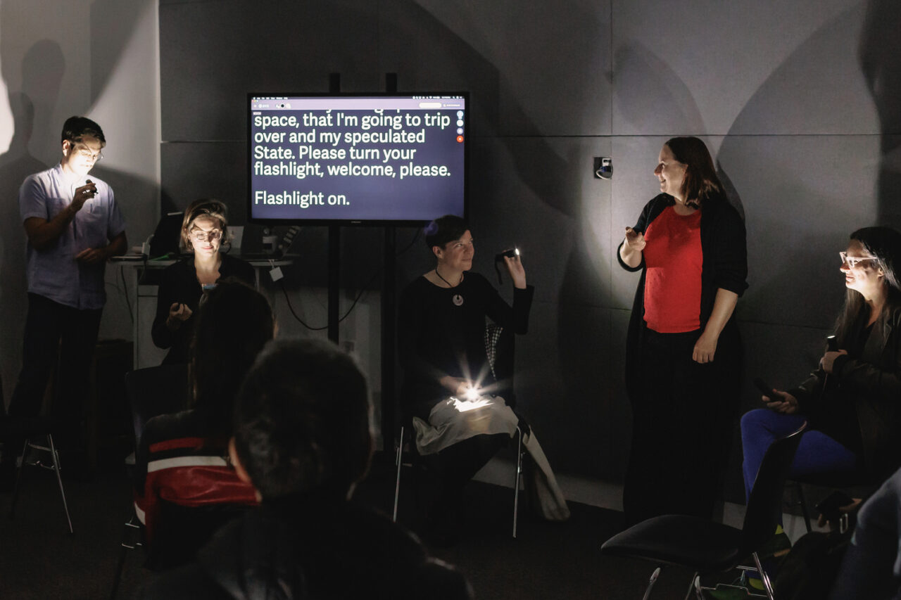
<path id="1" fill-rule="evenodd" d="M 773 537 L 782 514 L 782 493 L 797 445 L 807 423 L 769 445 L 754 479 L 742 526 L 742 555 L 758 550 Z"/>

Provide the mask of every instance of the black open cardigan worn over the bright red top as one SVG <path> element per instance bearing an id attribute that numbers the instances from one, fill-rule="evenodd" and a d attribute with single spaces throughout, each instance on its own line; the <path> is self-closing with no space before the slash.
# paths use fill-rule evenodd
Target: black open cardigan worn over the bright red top
<path id="1" fill-rule="evenodd" d="M 663 212 L 667 206 L 676 204 L 676 200 L 669 194 L 660 194 L 644 206 L 638 222 L 633 229 L 644 233 L 648 225 Z M 620 248 L 623 244 L 620 243 Z M 701 329 L 703 330 L 714 310 L 716 290 L 727 289 L 735 294 L 742 295 L 748 288 L 748 251 L 745 245 L 745 231 L 742 217 L 733 205 L 724 196 L 714 198 L 705 203 L 701 208 L 701 253 L 704 265 L 701 268 Z M 644 322 L 644 256 L 638 267 L 630 267 L 623 262 L 619 248 L 616 250 L 616 259 L 620 266 L 627 271 L 642 271 L 638 288 L 635 290 L 635 299 L 632 308 L 632 318 L 629 321 L 629 333 L 626 339 L 626 390 L 631 398 L 634 395 L 635 384 L 639 377 L 639 357 L 644 340 L 644 332 L 647 329 Z M 716 359 L 732 359 L 740 356 L 741 341 L 738 338 L 738 328 L 734 323 L 734 315 L 726 323 L 720 340 L 717 343 Z M 722 362 L 722 361 L 721 361 Z M 733 365 L 734 367 L 734 365 Z"/>

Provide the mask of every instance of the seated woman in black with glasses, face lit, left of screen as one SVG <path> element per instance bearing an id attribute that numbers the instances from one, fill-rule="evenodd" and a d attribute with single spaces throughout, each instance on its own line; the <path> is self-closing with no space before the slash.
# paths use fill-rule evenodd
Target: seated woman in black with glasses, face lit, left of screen
<path id="1" fill-rule="evenodd" d="M 157 315 L 151 335 L 158 348 L 168 348 L 163 364 L 187 364 L 188 342 L 201 297 L 223 277 L 254 284 L 253 267 L 219 251 L 230 241 L 228 216 L 219 200 L 196 200 L 187 207 L 181 227 L 182 248 L 192 252 L 166 268 L 159 282 Z"/>

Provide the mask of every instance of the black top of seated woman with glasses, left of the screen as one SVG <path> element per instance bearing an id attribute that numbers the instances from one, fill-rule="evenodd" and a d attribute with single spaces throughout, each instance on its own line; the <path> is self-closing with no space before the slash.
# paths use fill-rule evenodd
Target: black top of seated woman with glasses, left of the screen
<path id="1" fill-rule="evenodd" d="M 222 254 L 222 264 L 219 265 L 219 280 L 225 277 L 237 277 L 249 286 L 254 285 L 253 267 L 249 263 L 235 259 L 227 254 Z M 197 271 L 194 268 L 194 256 L 178 260 L 169 265 L 162 272 L 157 293 L 157 314 L 153 319 L 153 327 L 150 334 L 153 343 L 158 348 L 168 348 L 168 354 L 163 359 L 163 364 L 187 363 L 188 348 L 191 341 L 191 332 L 194 330 L 194 315 L 187 319 L 174 332 L 166 326 L 169 307 L 175 303 L 187 305 L 192 313 L 196 313 L 200 305 L 200 297 L 204 290 L 197 281 Z"/>

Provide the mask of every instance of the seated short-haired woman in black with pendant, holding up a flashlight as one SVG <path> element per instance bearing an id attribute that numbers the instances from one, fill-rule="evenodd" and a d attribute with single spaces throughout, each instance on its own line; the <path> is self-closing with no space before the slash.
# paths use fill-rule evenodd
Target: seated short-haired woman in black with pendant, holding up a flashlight
<path id="1" fill-rule="evenodd" d="M 405 371 L 401 402 L 407 416 L 433 423 L 432 409 L 449 396 L 504 395 L 488 365 L 486 317 L 516 333 L 525 333 L 534 288 L 525 283 L 519 257 L 505 258 L 514 282 L 513 306 L 485 277 L 473 273 L 472 235 L 460 217 L 446 215 L 425 230 L 425 242 L 437 260 L 435 268 L 416 278 L 401 295 L 398 351 Z M 423 457 L 438 476 L 430 514 L 436 527 L 459 505 L 463 486 L 509 440 L 508 434 L 480 434 Z"/>

